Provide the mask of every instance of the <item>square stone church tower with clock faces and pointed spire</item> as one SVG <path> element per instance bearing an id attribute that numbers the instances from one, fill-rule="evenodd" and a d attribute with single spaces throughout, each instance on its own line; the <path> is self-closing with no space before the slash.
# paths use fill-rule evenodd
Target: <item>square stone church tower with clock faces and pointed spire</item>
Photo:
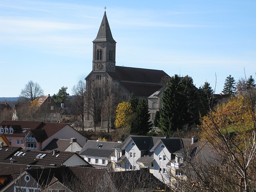
<path id="1" fill-rule="evenodd" d="M 116 69 L 116 41 L 113 39 L 106 11 L 97 37 L 93 40 L 92 71 L 113 71 Z"/>

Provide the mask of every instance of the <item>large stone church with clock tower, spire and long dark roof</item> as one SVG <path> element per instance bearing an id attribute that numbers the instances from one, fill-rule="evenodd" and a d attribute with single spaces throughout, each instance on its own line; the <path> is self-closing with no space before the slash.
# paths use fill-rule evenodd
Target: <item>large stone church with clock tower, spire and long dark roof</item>
<path id="1" fill-rule="evenodd" d="M 116 41 L 106 11 L 92 43 L 92 71 L 85 77 L 88 108 L 84 123 L 87 128 L 94 124 L 106 127 L 111 126 L 113 120 L 109 117 L 109 110 L 113 109 L 104 110 L 108 105 L 104 100 L 111 92 L 115 93 L 117 103 L 128 101 L 132 93 L 137 98 L 148 98 L 165 85 L 169 76 L 163 70 L 116 66 Z"/>

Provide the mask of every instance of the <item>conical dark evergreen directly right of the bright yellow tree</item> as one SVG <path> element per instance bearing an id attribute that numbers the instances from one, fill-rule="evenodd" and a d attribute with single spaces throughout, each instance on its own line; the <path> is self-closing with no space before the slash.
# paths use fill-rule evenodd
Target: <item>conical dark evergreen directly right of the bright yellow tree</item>
<path id="1" fill-rule="evenodd" d="M 144 99 L 140 99 L 136 108 L 136 121 L 131 122 L 131 133 L 135 135 L 146 135 L 152 129 L 149 119 L 148 103 Z"/>

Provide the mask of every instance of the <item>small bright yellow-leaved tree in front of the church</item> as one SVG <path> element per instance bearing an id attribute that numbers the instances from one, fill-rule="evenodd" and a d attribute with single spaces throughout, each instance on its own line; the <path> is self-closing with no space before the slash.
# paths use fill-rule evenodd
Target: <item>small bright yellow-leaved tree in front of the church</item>
<path id="1" fill-rule="evenodd" d="M 130 102 L 122 102 L 119 103 L 116 107 L 116 120 L 115 126 L 116 127 L 124 127 L 127 125 L 127 122 L 132 115 L 132 106 Z"/>

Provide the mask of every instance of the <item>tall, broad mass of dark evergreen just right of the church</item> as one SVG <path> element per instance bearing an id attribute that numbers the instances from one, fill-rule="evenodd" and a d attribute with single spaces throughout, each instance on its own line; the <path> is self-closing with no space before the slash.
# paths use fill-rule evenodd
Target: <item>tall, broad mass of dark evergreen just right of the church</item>
<path id="1" fill-rule="evenodd" d="M 171 136 L 186 124 L 199 123 L 197 93 L 191 77 L 172 76 L 161 101 L 159 126 L 164 134 Z"/>

